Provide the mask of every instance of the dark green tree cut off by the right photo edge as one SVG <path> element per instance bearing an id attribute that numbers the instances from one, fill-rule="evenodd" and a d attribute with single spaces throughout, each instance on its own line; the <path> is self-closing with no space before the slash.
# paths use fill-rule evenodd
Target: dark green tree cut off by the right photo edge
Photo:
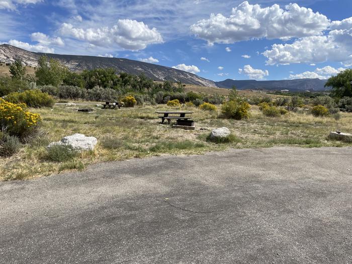
<path id="1" fill-rule="evenodd" d="M 352 97 L 352 69 L 345 69 L 335 76 L 331 76 L 325 87 L 332 87 L 331 96 L 336 98 Z"/>

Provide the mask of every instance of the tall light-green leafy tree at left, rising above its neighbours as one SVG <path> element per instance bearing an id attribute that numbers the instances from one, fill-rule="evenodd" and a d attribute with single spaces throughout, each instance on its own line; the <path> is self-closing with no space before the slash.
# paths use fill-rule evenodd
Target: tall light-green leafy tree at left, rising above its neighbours
<path id="1" fill-rule="evenodd" d="M 58 60 L 41 56 L 38 60 L 38 67 L 35 72 L 37 83 L 39 85 L 54 85 L 62 84 L 68 69 Z"/>

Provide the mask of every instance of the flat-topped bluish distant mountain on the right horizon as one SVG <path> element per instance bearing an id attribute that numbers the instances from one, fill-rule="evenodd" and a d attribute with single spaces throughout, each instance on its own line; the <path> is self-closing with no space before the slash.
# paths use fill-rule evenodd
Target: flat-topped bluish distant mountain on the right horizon
<path id="1" fill-rule="evenodd" d="M 323 91 L 327 80 L 294 79 L 294 80 L 232 80 L 215 82 L 220 88 L 231 89 L 233 85 L 238 90 L 289 90 L 289 91 Z"/>

